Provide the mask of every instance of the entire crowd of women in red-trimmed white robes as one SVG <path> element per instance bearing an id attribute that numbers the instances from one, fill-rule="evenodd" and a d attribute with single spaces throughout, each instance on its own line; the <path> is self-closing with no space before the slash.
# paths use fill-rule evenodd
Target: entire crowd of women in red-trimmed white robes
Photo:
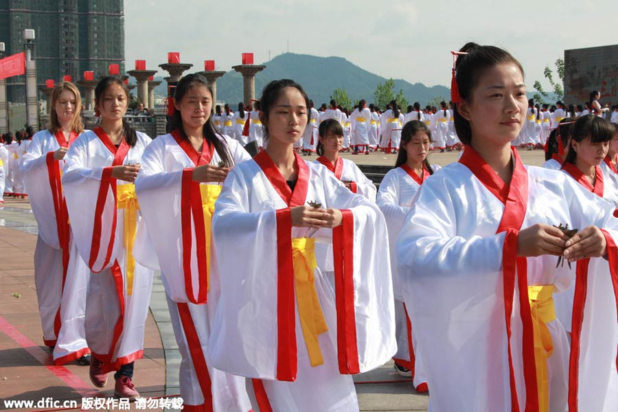
<path id="1" fill-rule="evenodd" d="M 213 111 L 190 74 L 154 140 L 124 121 L 119 78 L 95 90 L 94 130 L 56 85 L 51 128 L 0 145 L 1 192 L 27 193 L 38 223 L 54 363 L 90 365 L 96 387 L 115 371 L 137 398 L 159 270 L 187 411 L 355 411 L 351 375 L 390 358 L 433 411 L 615 411 L 618 106 L 541 108 L 507 52 L 457 55 L 455 103 L 405 114 L 317 110 L 292 80 Z M 512 146 L 545 148 L 545 168 Z M 398 156 L 376 192 L 346 150 Z"/>

